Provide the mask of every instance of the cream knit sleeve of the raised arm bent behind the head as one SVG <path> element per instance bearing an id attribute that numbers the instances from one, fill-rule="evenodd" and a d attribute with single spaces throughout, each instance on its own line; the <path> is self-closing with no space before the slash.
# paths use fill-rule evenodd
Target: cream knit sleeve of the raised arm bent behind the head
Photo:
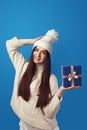
<path id="1" fill-rule="evenodd" d="M 17 37 L 6 41 L 6 48 L 15 70 L 21 69 L 26 61 L 22 54 L 18 52 L 18 48 L 21 46 L 23 46 L 23 43 Z"/>

